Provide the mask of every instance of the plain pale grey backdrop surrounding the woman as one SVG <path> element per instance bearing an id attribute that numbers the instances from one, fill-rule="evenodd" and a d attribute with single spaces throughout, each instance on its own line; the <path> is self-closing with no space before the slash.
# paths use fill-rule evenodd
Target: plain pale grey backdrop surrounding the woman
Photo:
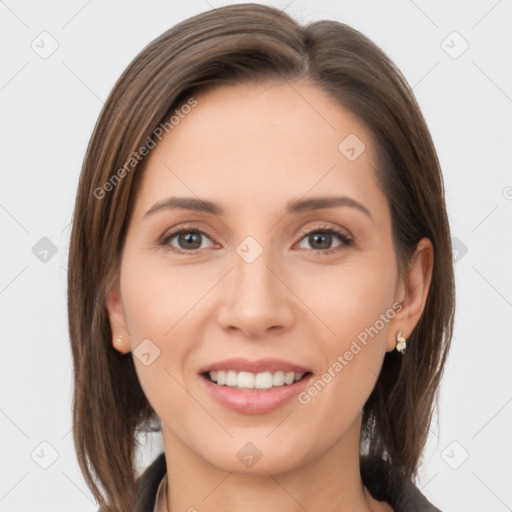
<path id="1" fill-rule="evenodd" d="M 0 0 L 0 511 L 96 510 L 70 434 L 65 294 L 80 166 L 131 59 L 178 21 L 228 3 Z M 511 510 L 512 3 L 266 3 L 348 23 L 414 87 L 457 248 L 453 350 L 419 486 L 443 511 Z M 160 450 L 148 439 L 140 467 Z"/>

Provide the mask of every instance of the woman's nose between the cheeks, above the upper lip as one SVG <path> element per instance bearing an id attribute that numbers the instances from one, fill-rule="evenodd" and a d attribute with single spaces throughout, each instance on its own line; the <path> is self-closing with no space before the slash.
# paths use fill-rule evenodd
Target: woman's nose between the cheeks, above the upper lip
<path id="1" fill-rule="evenodd" d="M 280 267 L 263 251 L 253 262 L 235 254 L 234 268 L 224 279 L 218 322 L 228 331 L 265 339 L 288 330 L 294 322 L 293 293 Z"/>

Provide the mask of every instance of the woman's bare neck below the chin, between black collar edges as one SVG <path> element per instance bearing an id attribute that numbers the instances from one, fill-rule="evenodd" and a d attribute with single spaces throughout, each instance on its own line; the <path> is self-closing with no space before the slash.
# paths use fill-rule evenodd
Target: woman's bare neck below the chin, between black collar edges
<path id="1" fill-rule="evenodd" d="M 333 446 L 287 471 L 222 470 L 163 429 L 169 512 L 370 512 L 391 510 L 364 488 L 359 470 L 361 418 Z M 257 466 L 254 466 L 256 468 Z"/>

